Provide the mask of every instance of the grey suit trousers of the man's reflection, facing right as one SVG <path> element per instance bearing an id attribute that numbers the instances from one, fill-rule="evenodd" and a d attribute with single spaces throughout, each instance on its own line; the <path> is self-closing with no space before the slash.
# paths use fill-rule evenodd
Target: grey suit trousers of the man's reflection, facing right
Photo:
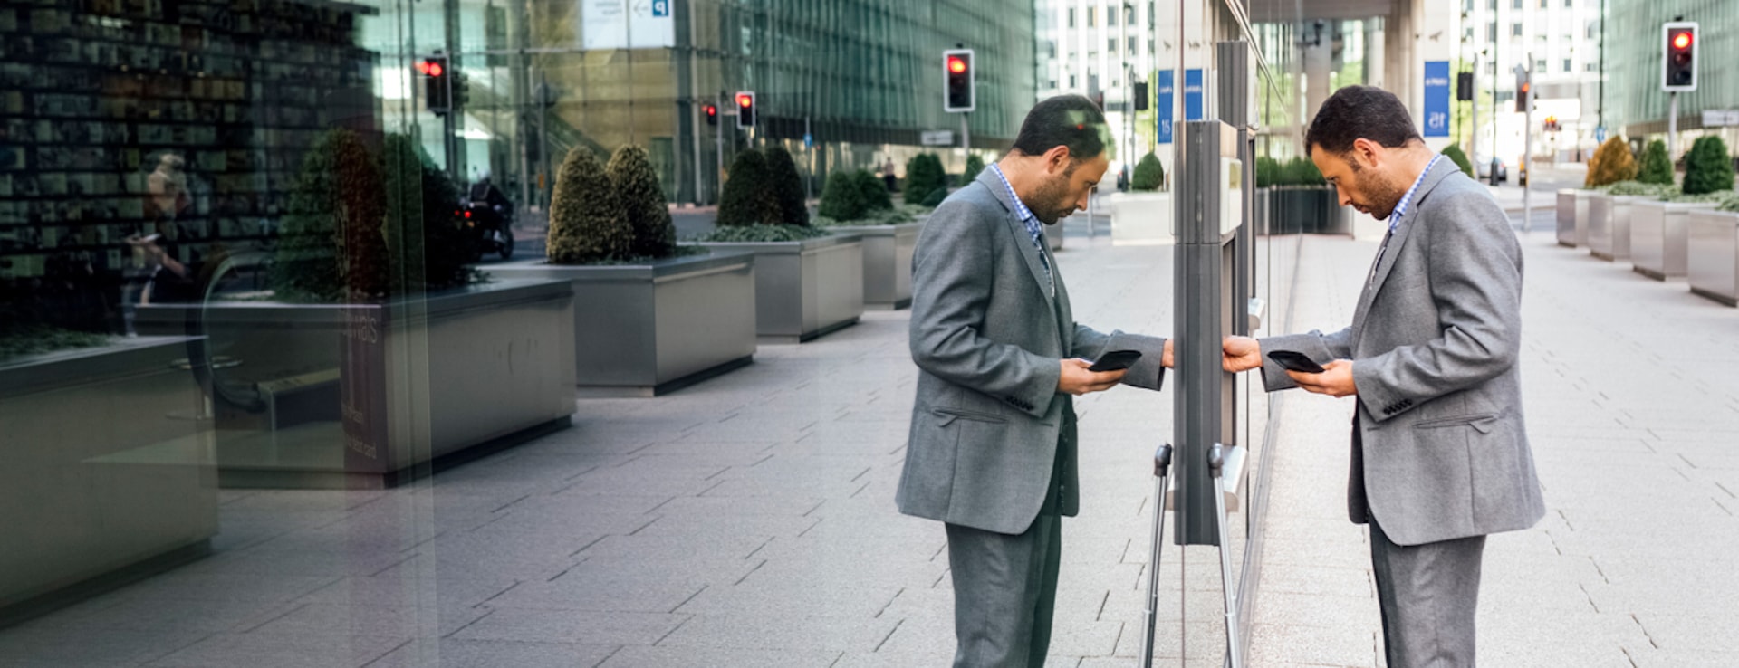
<path id="1" fill-rule="evenodd" d="M 955 668 L 1042 668 L 1063 565 L 1063 451 L 1038 517 L 1021 534 L 948 529 L 955 581 Z"/>

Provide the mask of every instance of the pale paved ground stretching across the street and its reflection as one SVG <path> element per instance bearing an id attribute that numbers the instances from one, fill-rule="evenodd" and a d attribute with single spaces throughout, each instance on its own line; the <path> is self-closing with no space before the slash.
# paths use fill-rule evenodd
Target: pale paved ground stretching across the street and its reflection
<path id="1" fill-rule="evenodd" d="M 1169 332 L 1172 249 L 1111 247 L 1076 223 L 1059 254 L 1076 317 Z M 1549 515 L 1490 541 L 1482 658 L 1734 665 L 1739 311 L 1549 235 L 1523 245 L 1525 409 Z M 1343 325 L 1374 252 L 1268 240 L 1280 329 Z M 946 665 L 943 529 L 892 503 L 908 318 L 762 346 L 668 397 L 581 400 L 574 430 L 410 487 L 226 491 L 217 555 L 0 631 L 0 666 Z M 1275 435 L 1254 454 L 1273 468 L 1250 665 L 1379 665 L 1365 532 L 1344 518 L 1351 402 L 1247 397 L 1245 433 Z M 1080 402 L 1052 666 L 1136 663 L 1148 461 L 1172 400 Z M 1245 513 L 1233 522 L 1242 534 Z M 1219 665 L 1217 564 L 1165 548 L 1162 665 Z"/>

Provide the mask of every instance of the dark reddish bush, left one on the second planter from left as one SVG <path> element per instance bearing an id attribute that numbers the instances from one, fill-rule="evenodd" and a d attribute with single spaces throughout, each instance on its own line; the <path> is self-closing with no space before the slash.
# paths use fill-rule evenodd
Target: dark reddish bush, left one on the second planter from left
<path id="1" fill-rule="evenodd" d="M 283 299 L 353 301 L 386 294 L 381 165 L 362 137 L 332 129 L 315 139 L 290 190 L 271 285 Z"/>

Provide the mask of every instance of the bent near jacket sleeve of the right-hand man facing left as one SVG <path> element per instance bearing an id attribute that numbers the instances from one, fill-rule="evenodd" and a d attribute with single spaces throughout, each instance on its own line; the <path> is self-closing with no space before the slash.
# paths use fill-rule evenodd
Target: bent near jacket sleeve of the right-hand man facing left
<path id="1" fill-rule="evenodd" d="M 1497 377 L 1522 351 L 1522 249 L 1508 217 L 1482 193 L 1456 193 L 1436 210 L 1445 214 L 1421 231 L 1440 334 L 1353 365 L 1377 421 Z"/>

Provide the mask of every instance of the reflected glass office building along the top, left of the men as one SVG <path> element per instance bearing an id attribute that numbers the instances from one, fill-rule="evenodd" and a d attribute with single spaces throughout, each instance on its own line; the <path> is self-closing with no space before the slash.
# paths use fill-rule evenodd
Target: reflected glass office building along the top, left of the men
<path id="1" fill-rule="evenodd" d="M 958 146 L 960 117 L 943 111 L 941 56 L 956 43 L 979 54 L 974 146 L 1005 148 L 1033 103 L 1031 2 L 504 5 L 457 2 L 452 37 L 431 30 L 417 33 L 416 43 L 419 52 L 452 43 L 459 54 L 470 80 L 457 129 L 468 139 L 468 170 L 487 165 L 503 181 L 523 183 L 523 190 L 510 186 L 511 195 L 534 202 L 543 202 L 534 193 L 537 176 L 550 174 L 567 150 L 609 151 L 628 143 L 650 151 L 673 202 L 715 200 L 720 165 L 750 144 L 729 115 L 727 96 L 736 90 L 758 94 L 753 141 L 786 144 L 800 165 L 812 160 L 817 174 L 833 165 L 873 169 L 889 157 L 904 165 L 923 130 L 951 130 Z M 367 43 L 384 50 L 396 23 L 383 12 Z M 416 94 L 414 87 L 386 89 L 388 99 Z M 720 106 L 716 127 L 703 117 L 706 104 Z M 426 115 L 421 122 L 438 127 Z M 805 130 L 814 137 L 809 157 Z M 426 146 L 430 139 L 424 134 Z M 440 155 L 433 139 L 430 153 Z M 960 169 L 962 153 L 930 150 Z"/>

